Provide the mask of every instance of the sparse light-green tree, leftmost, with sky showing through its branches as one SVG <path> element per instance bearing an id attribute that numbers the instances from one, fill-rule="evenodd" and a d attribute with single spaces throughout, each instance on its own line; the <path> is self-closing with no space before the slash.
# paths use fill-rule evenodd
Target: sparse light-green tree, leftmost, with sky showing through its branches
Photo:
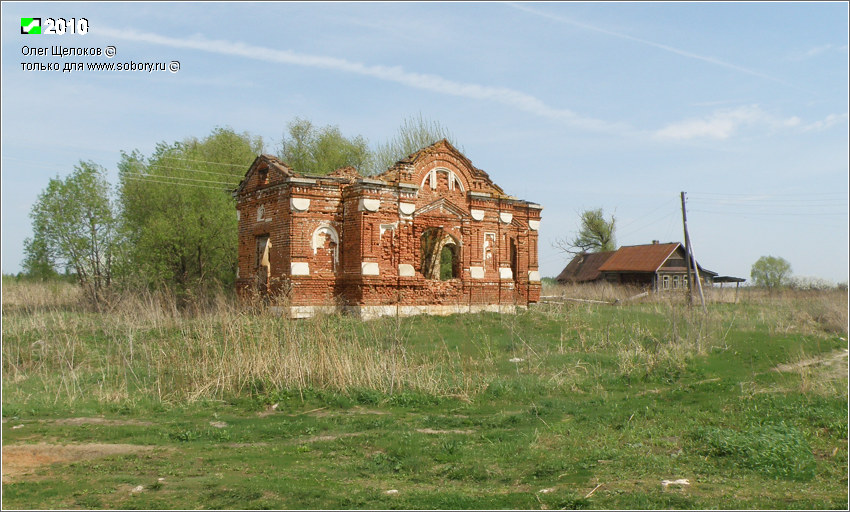
<path id="1" fill-rule="evenodd" d="M 33 237 L 25 242 L 24 267 L 55 273 L 57 265 L 74 270 L 95 306 L 112 281 L 118 242 L 106 171 L 80 162 L 64 180 L 52 178 L 30 211 Z"/>

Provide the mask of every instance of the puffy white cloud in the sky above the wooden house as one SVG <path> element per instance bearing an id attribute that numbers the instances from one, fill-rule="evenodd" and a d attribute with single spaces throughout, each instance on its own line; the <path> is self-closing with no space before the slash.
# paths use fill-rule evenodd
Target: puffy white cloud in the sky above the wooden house
<path id="1" fill-rule="evenodd" d="M 748 105 L 735 109 L 715 111 L 703 119 L 687 119 L 669 124 L 655 132 L 661 139 L 688 140 L 696 138 L 728 139 L 744 126 L 763 126 L 769 129 L 791 128 L 800 124 L 800 118 L 793 116 L 777 118 L 758 105 Z"/>

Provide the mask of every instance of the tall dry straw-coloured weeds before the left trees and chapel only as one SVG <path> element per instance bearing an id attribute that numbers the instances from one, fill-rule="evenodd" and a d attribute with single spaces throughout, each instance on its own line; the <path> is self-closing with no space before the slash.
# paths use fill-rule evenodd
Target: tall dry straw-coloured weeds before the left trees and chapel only
<path id="1" fill-rule="evenodd" d="M 33 386 L 54 402 L 91 394 L 182 402 L 310 388 L 469 397 L 487 385 L 470 358 L 412 355 L 410 333 L 395 320 L 290 320 L 278 313 L 285 299 L 238 302 L 226 294 L 187 311 L 168 292 L 147 291 L 114 297 L 108 314 L 58 303 L 36 311 L 33 304 L 48 302 L 15 292 L 22 308 L 4 315 L 3 372 L 5 391 L 17 398 Z M 30 389 L 19 387 L 24 381 Z"/>

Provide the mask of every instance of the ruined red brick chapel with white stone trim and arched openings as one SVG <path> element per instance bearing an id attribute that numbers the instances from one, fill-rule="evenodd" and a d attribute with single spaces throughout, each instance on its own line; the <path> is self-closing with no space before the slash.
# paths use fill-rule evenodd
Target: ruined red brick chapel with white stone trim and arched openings
<path id="1" fill-rule="evenodd" d="M 540 298 L 540 205 L 506 194 L 448 141 L 364 177 L 260 155 L 235 191 L 240 294 L 295 318 L 514 311 Z"/>

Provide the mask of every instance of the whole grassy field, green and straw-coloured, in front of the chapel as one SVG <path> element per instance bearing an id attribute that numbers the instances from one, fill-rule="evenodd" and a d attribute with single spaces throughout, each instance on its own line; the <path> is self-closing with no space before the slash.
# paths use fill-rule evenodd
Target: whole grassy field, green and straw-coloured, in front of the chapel
<path id="1" fill-rule="evenodd" d="M 3 508 L 846 509 L 846 292 L 728 292 L 289 321 L 7 281 Z"/>

